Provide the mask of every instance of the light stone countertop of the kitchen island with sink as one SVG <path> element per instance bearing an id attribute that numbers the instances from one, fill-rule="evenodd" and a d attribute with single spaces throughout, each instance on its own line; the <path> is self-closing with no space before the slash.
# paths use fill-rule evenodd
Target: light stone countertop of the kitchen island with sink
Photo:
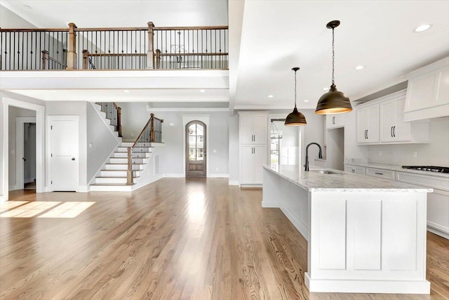
<path id="1" fill-rule="evenodd" d="M 309 192 L 433 192 L 431 188 L 422 188 L 421 186 L 408 183 L 400 183 L 398 181 L 353 174 L 340 170 L 326 169 L 337 171 L 340 174 L 320 174 L 313 170 L 323 170 L 323 168 L 312 165 L 309 166 L 311 171 L 304 171 L 298 165 L 282 165 L 279 171 L 275 171 L 269 166 L 263 167 Z"/>

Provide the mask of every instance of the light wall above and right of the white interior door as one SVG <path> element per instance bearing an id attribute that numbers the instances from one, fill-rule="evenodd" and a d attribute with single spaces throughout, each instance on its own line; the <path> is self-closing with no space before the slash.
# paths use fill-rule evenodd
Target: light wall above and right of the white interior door
<path id="1" fill-rule="evenodd" d="M 49 115 L 79 116 L 79 185 L 87 191 L 86 101 L 47 101 L 46 116 Z M 48 172 L 49 170 L 47 170 L 47 176 L 49 176 Z"/>

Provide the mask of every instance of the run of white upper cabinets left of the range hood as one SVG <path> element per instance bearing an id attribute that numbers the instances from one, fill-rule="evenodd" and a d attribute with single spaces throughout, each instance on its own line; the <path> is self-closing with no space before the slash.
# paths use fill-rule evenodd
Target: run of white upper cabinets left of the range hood
<path id="1" fill-rule="evenodd" d="M 371 100 L 357 108 L 357 143 L 429 143 L 428 122 L 404 122 L 406 91 Z"/>

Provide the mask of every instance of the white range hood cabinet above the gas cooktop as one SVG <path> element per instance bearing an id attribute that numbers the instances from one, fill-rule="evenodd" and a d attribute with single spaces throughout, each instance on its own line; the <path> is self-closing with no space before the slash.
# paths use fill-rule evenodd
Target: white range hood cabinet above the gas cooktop
<path id="1" fill-rule="evenodd" d="M 405 121 L 449 116 L 449 57 L 406 75 Z"/>

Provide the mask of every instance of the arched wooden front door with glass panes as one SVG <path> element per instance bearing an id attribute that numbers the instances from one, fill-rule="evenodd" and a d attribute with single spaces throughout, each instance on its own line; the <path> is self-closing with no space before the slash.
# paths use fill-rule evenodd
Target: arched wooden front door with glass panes
<path id="1" fill-rule="evenodd" d="M 206 177 L 206 124 L 187 123 L 185 141 L 185 176 Z"/>

